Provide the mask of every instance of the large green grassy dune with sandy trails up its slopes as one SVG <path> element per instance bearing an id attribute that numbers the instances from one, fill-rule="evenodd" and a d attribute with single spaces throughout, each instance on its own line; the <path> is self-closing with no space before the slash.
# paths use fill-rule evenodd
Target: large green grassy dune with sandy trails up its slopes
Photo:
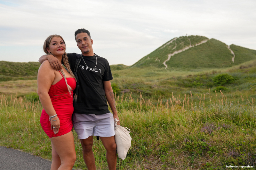
<path id="1" fill-rule="evenodd" d="M 131 67 L 154 66 L 167 69 L 179 68 L 221 68 L 231 67 L 243 62 L 256 59 L 256 50 L 241 46 L 228 46 L 216 39 L 208 39 L 203 36 L 182 36 L 174 38 L 146 55 Z M 169 60 L 168 59 L 169 56 Z"/>

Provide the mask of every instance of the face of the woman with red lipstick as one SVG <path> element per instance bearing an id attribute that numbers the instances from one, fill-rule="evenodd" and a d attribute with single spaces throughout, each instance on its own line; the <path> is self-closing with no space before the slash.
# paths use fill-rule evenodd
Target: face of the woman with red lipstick
<path id="1" fill-rule="evenodd" d="M 53 37 L 47 51 L 48 53 L 51 52 L 54 56 L 62 56 L 66 51 L 64 41 L 60 37 Z"/>

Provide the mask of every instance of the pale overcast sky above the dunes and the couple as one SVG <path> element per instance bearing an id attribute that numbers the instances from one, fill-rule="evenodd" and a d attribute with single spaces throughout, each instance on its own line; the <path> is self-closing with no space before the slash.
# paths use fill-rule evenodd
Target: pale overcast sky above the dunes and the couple
<path id="1" fill-rule="evenodd" d="M 0 0 L 0 60 L 38 61 L 51 34 L 63 37 L 67 53 L 80 53 L 79 28 L 110 65 L 132 65 L 186 33 L 256 49 L 256 1 Z"/>

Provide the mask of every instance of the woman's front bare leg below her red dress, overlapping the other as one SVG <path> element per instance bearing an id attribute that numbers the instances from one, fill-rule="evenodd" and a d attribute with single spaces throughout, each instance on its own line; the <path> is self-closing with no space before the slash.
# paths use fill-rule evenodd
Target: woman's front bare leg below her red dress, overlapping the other
<path id="1" fill-rule="evenodd" d="M 65 135 L 51 138 L 52 146 L 60 157 L 58 170 L 71 170 L 76 161 L 76 150 L 73 133 L 70 131 Z"/>

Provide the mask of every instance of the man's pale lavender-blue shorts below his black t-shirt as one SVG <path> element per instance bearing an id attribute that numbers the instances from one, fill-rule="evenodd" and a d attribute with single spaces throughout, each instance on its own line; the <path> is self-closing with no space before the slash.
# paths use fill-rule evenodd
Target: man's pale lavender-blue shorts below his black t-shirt
<path id="1" fill-rule="evenodd" d="M 103 115 L 73 114 L 73 127 L 79 139 L 89 136 L 115 136 L 114 117 L 112 113 Z"/>

